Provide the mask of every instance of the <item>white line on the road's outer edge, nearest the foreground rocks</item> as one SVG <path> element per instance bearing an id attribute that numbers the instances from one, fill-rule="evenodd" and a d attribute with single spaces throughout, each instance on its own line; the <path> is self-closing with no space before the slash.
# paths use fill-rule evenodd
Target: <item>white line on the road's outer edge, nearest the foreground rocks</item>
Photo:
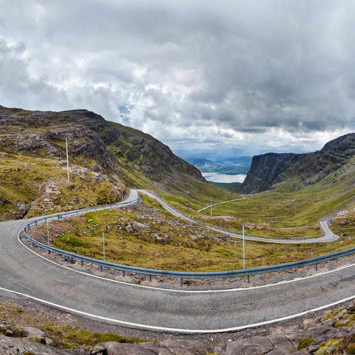
<path id="1" fill-rule="evenodd" d="M 145 324 L 119 321 L 118 319 L 108 318 L 108 317 L 103 317 L 101 315 L 96 315 L 96 314 L 92 314 L 92 313 L 88 313 L 88 312 L 83 312 L 83 311 L 80 311 L 80 310 L 77 310 L 77 309 L 73 309 L 73 308 L 62 306 L 60 304 L 56 304 L 56 303 L 53 303 L 53 302 L 42 300 L 42 299 L 37 298 L 37 297 L 26 295 L 26 294 L 21 293 L 21 292 L 4 289 L 2 287 L 0 287 L 0 290 L 7 291 L 7 292 L 13 293 L 15 295 L 19 295 L 19 296 L 24 296 L 24 297 L 30 298 L 32 300 L 48 304 L 50 306 L 63 309 L 65 311 L 69 311 L 69 312 L 77 313 L 77 314 L 80 314 L 80 315 L 85 315 L 85 316 L 88 316 L 88 317 L 96 318 L 96 319 L 99 319 L 100 321 L 106 321 L 106 322 L 111 322 L 111 323 L 116 323 L 116 324 L 122 324 L 122 325 L 130 326 L 130 327 L 145 328 L 145 329 L 167 331 L 167 332 L 176 332 L 176 333 L 222 333 L 222 332 L 231 332 L 231 331 L 236 331 L 236 330 L 241 330 L 241 329 L 246 329 L 246 328 L 254 328 L 254 327 L 259 327 L 259 326 L 263 326 L 263 325 L 266 325 L 266 324 L 286 321 L 287 319 L 299 317 L 301 315 L 307 314 L 308 312 L 315 312 L 315 311 L 322 310 L 322 309 L 325 309 L 325 308 L 328 308 L 328 307 L 332 307 L 332 306 L 335 306 L 335 305 L 337 305 L 339 303 L 350 301 L 353 298 L 355 298 L 355 295 L 354 296 L 350 296 L 350 297 L 344 298 L 342 300 L 327 304 L 325 306 L 309 309 L 309 310 L 306 310 L 304 312 L 288 315 L 286 317 L 271 319 L 270 321 L 265 321 L 265 322 L 260 322 L 260 323 L 248 324 L 248 325 L 245 325 L 245 326 L 238 326 L 238 327 L 231 327 L 231 328 L 224 328 L 224 329 L 179 329 L 179 328 L 167 328 L 167 327 L 149 326 L 149 325 L 145 325 Z"/>

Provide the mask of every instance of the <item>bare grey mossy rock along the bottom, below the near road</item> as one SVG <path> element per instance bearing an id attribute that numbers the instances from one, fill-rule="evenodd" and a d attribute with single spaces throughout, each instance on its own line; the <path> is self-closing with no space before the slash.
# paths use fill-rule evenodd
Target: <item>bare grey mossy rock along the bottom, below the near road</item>
<path id="1" fill-rule="evenodd" d="M 258 328 L 230 333 L 231 339 L 219 344 L 194 339 L 167 339 L 139 344 L 108 341 L 84 349 L 61 350 L 37 328 L 0 324 L 0 352 L 4 354 L 77 354 L 77 355 L 218 355 L 239 354 L 342 354 L 355 352 L 355 303 L 325 313 L 321 318 L 297 320 L 291 326 Z M 248 335 L 246 335 L 248 334 Z M 239 337 L 238 337 L 239 335 Z M 216 336 L 212 335 L 212 336 Z M 226 339 L 226 338 L 225 338 Z"/>

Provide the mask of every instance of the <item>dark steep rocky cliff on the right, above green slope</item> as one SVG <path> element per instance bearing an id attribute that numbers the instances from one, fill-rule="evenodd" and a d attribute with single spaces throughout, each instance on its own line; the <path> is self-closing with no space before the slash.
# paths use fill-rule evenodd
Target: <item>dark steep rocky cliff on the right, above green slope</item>
<path id="1" fill-rule="evenodd" d="M 355 133 L 329 141 L 314 153 L 267 153 L 253 157 L 251 169 L 241 186 L 246 193 L 276 187 L 294 190 L 324 179 L 330 172 L 349 163 L 355 154 Z"/>

